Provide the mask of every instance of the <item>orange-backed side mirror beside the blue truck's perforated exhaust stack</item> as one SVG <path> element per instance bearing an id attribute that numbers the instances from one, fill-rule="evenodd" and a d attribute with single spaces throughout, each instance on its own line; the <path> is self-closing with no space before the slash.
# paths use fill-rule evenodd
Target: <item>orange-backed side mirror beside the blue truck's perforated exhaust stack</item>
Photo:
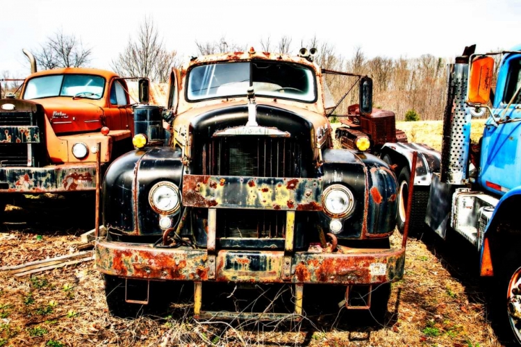
<path id="1" fill-rule="evenodd" d="M 479 57 L 470 64 L 467 102 L 484 105 L 490 100 L 490 88 L 494 71 L 492 57 Z"/>

